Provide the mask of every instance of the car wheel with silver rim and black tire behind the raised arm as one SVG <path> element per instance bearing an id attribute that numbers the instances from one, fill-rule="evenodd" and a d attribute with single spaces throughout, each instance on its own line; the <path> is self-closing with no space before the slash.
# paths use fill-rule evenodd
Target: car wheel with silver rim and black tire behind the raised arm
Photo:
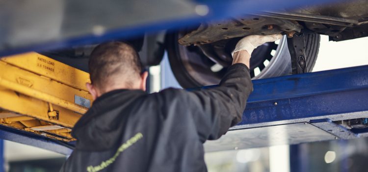
<path id="1" fill-rule="evenodd" d="M 170 61 L 171 69 L 178 83 L 184 88 L 216 85 L 220 82 L 222 76 L 226 72 L 226 68 L 218 71 L 213 71 L 212 67 L 216 64 L 206 57 L 199 48 L 195 46 L 185 47 L 178 43 L 178 38 L 182 36 L 179 32 L 174 32 L 166 35 L 166 49 Z M 320 35 L 316 33 L 305 33 L 306 43 L 306 60 L 307 69 L 312 71 L 318 55 Z M 258 50 L 257 50 L 258 49 Z M 271 78 L 291 74 L 291 59 L 288 49 L 287 39 L 284 36 L 278 45 L 274 43 L 264 44 L 257 48 L 254 53 L 261 56 L 260 60 L 268 60 L 268 65 L 264 66 L 262 61 L 251 61 L 251 77 L 252 79 Z M 271 57 L 270 52 L 275 50 Z M 254 56 L 252 54 L 252 59 Z M 267 57 L 268 56 L 268 57 Z M 266 58 L 262 58 L 266 57 Z M 251 60 L 252 60 L 251 59 Z M 254 60 L 254 59 L 253 59 Z M 261 72 L 258 75 L 254 74 L 258 66 L 253 66 L 252 63 L 262 65 Z"/>

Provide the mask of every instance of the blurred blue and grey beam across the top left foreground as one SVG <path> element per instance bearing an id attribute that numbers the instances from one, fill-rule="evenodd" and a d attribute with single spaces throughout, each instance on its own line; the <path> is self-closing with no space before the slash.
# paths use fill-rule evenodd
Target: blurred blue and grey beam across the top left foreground
<path id="1" fill-rule="evenodd" d="M 4 1 L 0 5 L 0 56 L 126 39 L 205 20 L 328 2 L 337 0 Z"/>

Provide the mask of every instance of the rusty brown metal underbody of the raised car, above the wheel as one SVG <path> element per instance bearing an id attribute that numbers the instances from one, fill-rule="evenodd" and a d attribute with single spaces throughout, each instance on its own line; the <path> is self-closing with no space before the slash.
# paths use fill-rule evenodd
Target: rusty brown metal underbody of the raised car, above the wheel
<path id="1" fill-rule="evenodd" d="M 179 39 L 179 43 L 185 46 L 212 44 L 213 47 L 224 48 L 233 38 L 276 33 L 292 37 L 301 30 L 329 35 L 335 41 L 353 39 L 368 36 L 367 31 L 360 31 L 368 28 L 367 9 L 367 0 L 355 0 L 210 21 L 201 23 L 196 29 L 183 30 L 185 34 Z"/>

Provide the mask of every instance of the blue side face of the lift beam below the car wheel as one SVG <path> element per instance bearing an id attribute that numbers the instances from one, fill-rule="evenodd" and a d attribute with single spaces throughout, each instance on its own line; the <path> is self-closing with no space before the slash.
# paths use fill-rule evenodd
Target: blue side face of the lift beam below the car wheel
<path id="1" fill-rule="evenodd" d="M 232 129 L 368 117 L 368 66 L 253 80 L 253 87 Z"/>

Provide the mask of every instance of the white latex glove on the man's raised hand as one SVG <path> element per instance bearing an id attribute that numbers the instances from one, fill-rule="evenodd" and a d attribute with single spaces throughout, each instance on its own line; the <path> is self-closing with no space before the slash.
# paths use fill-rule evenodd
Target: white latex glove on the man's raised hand
<path id="1" fill-rule="evenodd" d="M 245 36 L 237 42 L 237 46 L 235 46 L 234 51 L 231 53 L 231 56 L 234 57 L 234 53 L 240 50 L 246 50 L 249 55 L 252 55 L 254 49 L 258 46 L 266 43 L 273 42 L 279 40 L 283 37 L 281 34 L 273 34 L 273 35 L 249 35 Z"/>

